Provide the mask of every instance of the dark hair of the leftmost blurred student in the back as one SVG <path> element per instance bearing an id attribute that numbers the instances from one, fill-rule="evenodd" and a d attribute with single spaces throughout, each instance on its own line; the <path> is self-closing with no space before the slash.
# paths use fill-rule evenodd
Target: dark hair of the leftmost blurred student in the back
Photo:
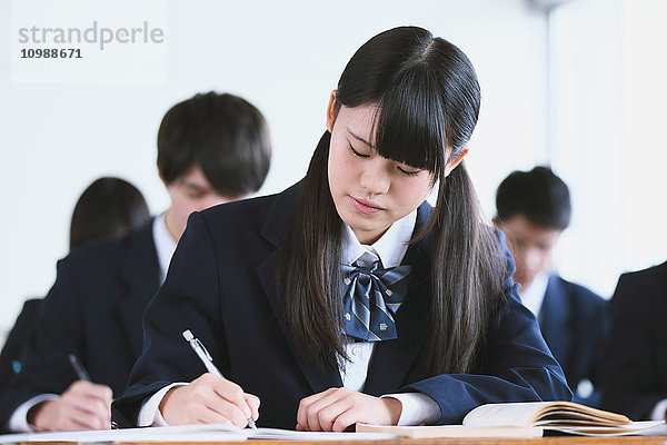
<path id="1" fill-rule="evenodd" d="M 79 197 L 70 224 L 70 250 L 119 237 L 150 219 L 141 191 L 120 178 L 99 178 Z"/>

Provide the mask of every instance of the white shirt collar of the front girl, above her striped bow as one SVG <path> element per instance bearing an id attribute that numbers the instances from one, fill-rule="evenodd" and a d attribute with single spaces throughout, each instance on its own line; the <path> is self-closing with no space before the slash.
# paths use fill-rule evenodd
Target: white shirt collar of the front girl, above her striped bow
<path id="1" fill-rule="evenodd" d="M 356 260 L 361 263 L 372 263 L 379 259 L 384 268 L 400 266 L 409 240 L 417 222 L 417 210 L 400 218 L 394 222 L 389 229 L 372 245 L 362 245 L 359 243 L 351 227 L 345 224 L 342 236 L 342 261 L 351 265 Z M 364 258 L 361 258 L 364 256 Z"/>

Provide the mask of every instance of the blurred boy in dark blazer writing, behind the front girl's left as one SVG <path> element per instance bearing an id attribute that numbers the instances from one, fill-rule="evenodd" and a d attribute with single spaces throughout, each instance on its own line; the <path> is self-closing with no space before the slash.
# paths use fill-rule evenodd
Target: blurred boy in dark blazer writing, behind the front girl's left
<path id="1" fill-rule="evenodd" d="M 0 400 L 0 422 L 12 431 L 109 428 L 112 395 L 141 353 L 143 309 L 188 216 L 257 191 L 270 152 L 262 115 L 239 97 L 209 92 L 171 108 L 158 132 L 158 171 L 171 206 L 120 240 L 59 261 L 22 369 Z M 78 379 L 70 354 L 93 383 Z"/>

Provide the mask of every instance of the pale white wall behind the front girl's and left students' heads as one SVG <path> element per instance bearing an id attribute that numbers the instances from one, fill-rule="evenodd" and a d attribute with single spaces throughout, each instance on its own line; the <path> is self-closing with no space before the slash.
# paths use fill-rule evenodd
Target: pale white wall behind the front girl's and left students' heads
<path id="1" fill-rule="evenodd" d="M 68 12 L 63 3 L 59 13 L 71 12 L 83 24 L 104 19 Z M 123 177 L 145 192 L 152 211 L 166 208 L 155 167 L 156 134 L 171 105 L 211 89 L 256 103 L 275 146 L 261 192 L 279 191 L 305 172 L 325 128 L 329 92 L 354 50 L 394 26 L 429 28 L 477 67 L 484 102 L 468 166 L 489 217 L 499 181 L 512 169 L 546 160 L 547 27 L 545 16 L 524 0 L 153 6 L 168 17 L 163 80 L 16 82 L 7 40 L 10 2 L 0 0 L 0 330 L 12 325 L 24 298 L 48 291 L 56 260 L 67 254 L 71 210 L 92 179 Z M 135 11 L 119 10 L 128 11 L 128 20 Z"/>

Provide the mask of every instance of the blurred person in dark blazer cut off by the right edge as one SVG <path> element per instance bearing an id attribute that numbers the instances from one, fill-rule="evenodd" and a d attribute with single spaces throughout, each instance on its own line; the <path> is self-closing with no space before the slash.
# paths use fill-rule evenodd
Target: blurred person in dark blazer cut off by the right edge
<path id="1" fill-rule="evenodd" d="M 667 263 L 621 275 L 609 316 L 600 405 L 667 421 Z"/>

